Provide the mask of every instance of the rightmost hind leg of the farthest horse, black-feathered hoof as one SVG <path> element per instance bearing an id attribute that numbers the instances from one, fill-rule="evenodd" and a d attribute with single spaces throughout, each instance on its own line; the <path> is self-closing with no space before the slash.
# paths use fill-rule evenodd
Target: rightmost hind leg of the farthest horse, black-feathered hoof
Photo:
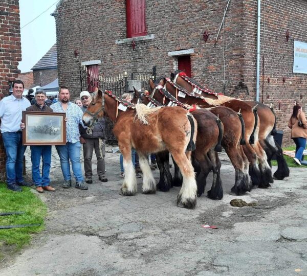
<path id="1" fill-rule="evenodd" d="M 272 135 L 268 135 L 265 140 L 267 147 L 275 153 L 277 160 L 277 171 L 274 173 L 274 178 L 278 180 L 282 180 L 284 177 L 288 177 L 290 175 L 290 170 L 287 165 L 286 160 L 283 158 L 281 147 L 274 141 L 274 137 Z M 271 162 L 271 160 L 270 160 Z"/>

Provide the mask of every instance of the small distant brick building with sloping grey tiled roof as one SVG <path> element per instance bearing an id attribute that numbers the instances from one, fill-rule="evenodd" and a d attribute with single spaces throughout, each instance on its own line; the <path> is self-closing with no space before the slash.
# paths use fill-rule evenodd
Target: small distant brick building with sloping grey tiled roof
<path id="1" fill-rule="evenodd" d="M 56 44 L 31 68 L 33 86 L 44 86 L 57 79 Z"/>

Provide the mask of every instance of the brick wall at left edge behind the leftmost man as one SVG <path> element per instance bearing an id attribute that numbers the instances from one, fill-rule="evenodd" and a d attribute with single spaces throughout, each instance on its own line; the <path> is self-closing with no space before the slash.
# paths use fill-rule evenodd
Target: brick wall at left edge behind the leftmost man
<path id="1" fill-rule="evenodd" d="M 19 1 L 0 2 L 0 97 L 9 94 L 21 60 Z M 5 151 L 0 139 L 0 179 L 5 178 Z"/>

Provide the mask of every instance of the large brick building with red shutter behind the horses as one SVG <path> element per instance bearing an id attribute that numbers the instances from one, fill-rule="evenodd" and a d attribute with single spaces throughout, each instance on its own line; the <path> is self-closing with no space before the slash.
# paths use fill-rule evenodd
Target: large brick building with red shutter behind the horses
<path id="1" fill-rule="evenodd" d="M 294 40 L 307 42 L 306 0 L 261 0 L 260 101 L 285 131 L 295 100 L 306 110 L 307 75 L 294 74 Z M 58 78 L 77 96 L 79 63 L 99 74 L 124 71 L 169 76 L 185 68 L 196 81 L 225 95 L 255 99 L 257 0 L 116 2 L 61 0 L 56 20 Z M 137 5 L 136 5 L 137 4 Z M 287 35 L 288 34 L 288 35 Z M 217 37 L 217 39 L 216 39 Z M 263 93 L 262 93 L 263 87 Z"/>

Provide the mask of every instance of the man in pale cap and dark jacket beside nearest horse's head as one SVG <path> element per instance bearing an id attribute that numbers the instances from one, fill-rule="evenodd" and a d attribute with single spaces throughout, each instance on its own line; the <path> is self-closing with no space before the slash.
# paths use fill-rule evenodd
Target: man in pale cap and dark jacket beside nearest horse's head
<path id="1" fill-rule="evenodd" d="M 88 91 L 82 91 L 80 93 L 80 99 L 82 102 L 82 111 L 85 112 L 87 106 L 90 105 L 92 98 Z M 85 171 L 85 182 L 93 183 L 92 176 L 92 156 L 93 150 L 97 157 L 97 174 L 99 180 L 106 182 L 107 178 L 104 176 L 105 163 L 104 163 L 104 119 L 98 122 L 91 133 L 79 125 L 80 130 L 80 143 L 83 144 L 83 157 L 84 157 L 84 171 Z"/>

